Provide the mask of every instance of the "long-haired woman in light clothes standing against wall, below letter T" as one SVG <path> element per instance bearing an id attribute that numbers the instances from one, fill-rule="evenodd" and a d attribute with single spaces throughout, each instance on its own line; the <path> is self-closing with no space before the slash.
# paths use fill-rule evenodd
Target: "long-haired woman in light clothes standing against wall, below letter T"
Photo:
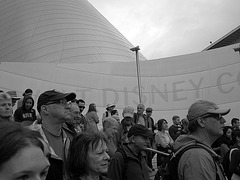
<path id="1" fill-rule="evenodd" d="M 97 115 L 96 104 L 89 104 L 88 112 L 85 115 L 87 121 L 87 131 L 98 132 L 97 124 L 99 123 L 99 117 Z"/>

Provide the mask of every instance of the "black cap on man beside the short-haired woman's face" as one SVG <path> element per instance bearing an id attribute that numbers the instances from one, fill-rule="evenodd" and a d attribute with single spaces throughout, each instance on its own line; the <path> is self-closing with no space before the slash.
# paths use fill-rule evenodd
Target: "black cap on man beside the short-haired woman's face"
<path id="1" fill-rule="evenodd" d="M 148 130 L 145 126 L 141 124 L 135 124 L 128 131 L 128 137 L 131 136 L 142 136 L 151 138 L 153 136 L 153 133 L 150 130 Z"/>

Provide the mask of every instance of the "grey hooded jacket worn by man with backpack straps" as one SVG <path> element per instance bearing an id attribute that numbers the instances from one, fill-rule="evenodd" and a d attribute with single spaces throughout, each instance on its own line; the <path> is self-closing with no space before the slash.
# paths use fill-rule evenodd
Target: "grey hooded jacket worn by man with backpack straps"
<path id="1" fill-rule="evenodd" d="M 177 151 L 193 143 L 203 144 L 209 148 L 211 153 L 203 148 L 193 148 L 184 152 L 178 163 L 179 180 L 226 180 L 223 169 L 218 162 L 220 157 L 197 136 L 179 136 L 175 141 L 174 150 Z"/>

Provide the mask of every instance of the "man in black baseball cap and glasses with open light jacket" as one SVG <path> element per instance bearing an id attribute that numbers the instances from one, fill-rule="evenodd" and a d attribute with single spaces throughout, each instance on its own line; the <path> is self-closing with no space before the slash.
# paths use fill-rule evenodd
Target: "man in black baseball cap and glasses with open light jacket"
<path id="1" fill-rule="evenodd" d="M 37 110 L 42 124 L 33 125 L 32 128 L 39 131 L 50 146 L 51 167 L 46 180 L 65 179 L 64 164 L 70 139 L 62 126 L 64 122 L 71 119 L 69 102 L 75 98 L 75 93 L 62 93 L 56 90 L 45 91 L 38 98 Z"/>

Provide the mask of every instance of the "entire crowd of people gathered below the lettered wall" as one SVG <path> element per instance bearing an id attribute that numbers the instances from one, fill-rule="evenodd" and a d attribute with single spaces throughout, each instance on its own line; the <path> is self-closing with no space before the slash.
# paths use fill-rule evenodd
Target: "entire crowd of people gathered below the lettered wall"
<path id="1" fill-rule="evenodd" d="M 193 144 L 198 148 L 187 149 L 179 160 L 178 179 L 240 177 L 239 119 L 224 126 L 230 109 L 213 102 L 194 102 L 186 117 L 172 117 L 170 127 L 166 119 L 154 121 L 153 108 L 142 103 L 136 111 L 125 107 L 123 119 L 116 105 L 108 104 L 99 129 L 96 104 L 89 103 L 83 114 L 85 101 L 74 92 L 45 91 L 37 110 L 32 95 L 31 89 L 22 98 L 0 92 L 0 179 L 150 180 L 149 173 L 156 171 L 155 179 L 168 180 L 163 173 L 168 156 L 158 152 L 170 155 Z M 156 152 L 157 169 L 152 164 Z"/>

